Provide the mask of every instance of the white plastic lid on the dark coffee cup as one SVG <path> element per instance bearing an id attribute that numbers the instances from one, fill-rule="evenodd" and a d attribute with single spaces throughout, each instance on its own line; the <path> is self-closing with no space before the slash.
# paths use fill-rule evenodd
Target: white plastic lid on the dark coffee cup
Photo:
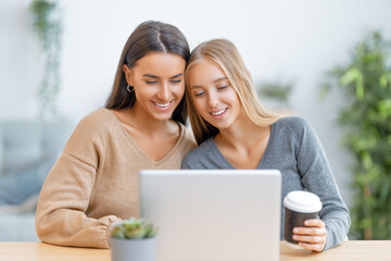
<path id="1" fill-rule="evenodd" d="M 314 213 L 321 209 L 321 201 L 313 192 L 291 191 L 283 199 L 283 206 L 297 212 Z"/>

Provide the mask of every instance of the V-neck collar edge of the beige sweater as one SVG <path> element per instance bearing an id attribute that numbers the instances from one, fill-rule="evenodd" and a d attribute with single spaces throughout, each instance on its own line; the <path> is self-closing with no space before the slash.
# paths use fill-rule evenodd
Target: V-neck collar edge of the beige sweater
<path id="1" fill-rule="evenodd" d="M 178 123 L 178 126 L 180 128 L 178 140 L 175 142 L 174 147 L 168 151 L 168 153 L 163 159 L 161 159 L 159 161 L 154 161 L 137 145 L 137 142 L 135 142 L 134 138 L 129 135 L 129 133 L 126 130 L 126 128 L 122 125 L 121 121 L 116 117 L 116 115 L 109 109 L 104 109 L 104 110 L 109 111 L 110 114 L 114 117 L 114 120 L 116 122 L 116 126 L 121 129 L 121 132 L 124 134 L 126 139 L 129 140 L 130 145 L 133 147 L 135 147 L 135 149 L 153 165 L 159 165 L 159 164 L 165 162 L 175 152 L 175 150 L 177 149 L 177 147 L 179 146 L 179 144 L 182 141 L 182 139 L 185 137 L 185 135 L 184 135 L 185 126 L 182 126 L 180 123 Z"/>

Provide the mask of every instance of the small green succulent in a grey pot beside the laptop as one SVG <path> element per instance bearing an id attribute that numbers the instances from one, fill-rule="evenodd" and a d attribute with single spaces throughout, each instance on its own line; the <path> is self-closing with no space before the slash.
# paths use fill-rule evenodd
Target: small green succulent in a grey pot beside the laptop
<path id="1" fill-rule="evenodd" d="M 111 232 L 112 261 L 155 261 L 156 228 L 143 219 L 130 217 Z"/>

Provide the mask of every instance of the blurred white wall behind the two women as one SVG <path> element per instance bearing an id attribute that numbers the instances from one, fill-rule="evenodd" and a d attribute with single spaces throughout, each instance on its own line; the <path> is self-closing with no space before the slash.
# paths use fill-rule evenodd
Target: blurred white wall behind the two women
<path id="1" fill-rule="evenodd" d="M 29 0 L 0 1 L 0 119 L 34 119 L 43 57 L 31 32 Z M 241 51 L 255 83 L 294 80 L 291 107 L 317 130 L 342 196 L 350 201 L 349 157 L 336 125 L 343 100 L 318 99 L 324 73 L 346 62 L 371 29 L 391 38 L 388 0 L 62 0 L 64 34 L 59 108 L 79 121 L 102 107 L 125 40 L 142 21 L 172 23 L 191 48 L 224 37 Z"/>

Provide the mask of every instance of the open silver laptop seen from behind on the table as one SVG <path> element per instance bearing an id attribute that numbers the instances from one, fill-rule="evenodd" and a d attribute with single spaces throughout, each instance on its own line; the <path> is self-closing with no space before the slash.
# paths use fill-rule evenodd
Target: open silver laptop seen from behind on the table
<path id="1" fill-rule="evenodd" d="M 157 261 L 279 260 L 277 170 L 140 171 L 140 214 Z"/>

